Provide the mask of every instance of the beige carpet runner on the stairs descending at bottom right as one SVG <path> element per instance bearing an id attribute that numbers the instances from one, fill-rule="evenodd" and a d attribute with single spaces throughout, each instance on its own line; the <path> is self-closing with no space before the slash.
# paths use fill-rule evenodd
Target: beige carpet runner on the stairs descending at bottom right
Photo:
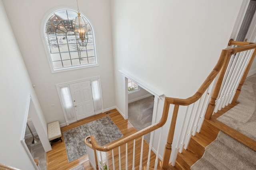
<path id="1" fill-rule="evenodd" d="M 256 152 L 234 138 L 219 132 L 205 148 L 204 155 L 191 170 L 255 170 Z"/>

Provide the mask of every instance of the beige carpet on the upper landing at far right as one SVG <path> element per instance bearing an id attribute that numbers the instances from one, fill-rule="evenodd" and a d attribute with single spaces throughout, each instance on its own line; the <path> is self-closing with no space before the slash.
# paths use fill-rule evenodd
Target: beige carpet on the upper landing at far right
<path id="1" fill-rule="evenodd" d="M 238 102 L 217 120 L 256 141 L 256 74 L 246 78 Z"/>

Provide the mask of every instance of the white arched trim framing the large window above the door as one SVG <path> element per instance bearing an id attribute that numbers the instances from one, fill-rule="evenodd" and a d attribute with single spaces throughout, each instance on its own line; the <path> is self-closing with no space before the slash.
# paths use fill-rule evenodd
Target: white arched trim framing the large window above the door
<path id="1" fill-rule="evenodd" d="M 83 16 L 85 16 L 85 18 L 87 19 L 87 21 L 90 23 L 90 25 L 92 27 L 92 33 L 94 35 L 94 49 L 95 49 L 96 63 L 87 64 L 87 65 L 77 65 L 77 66 L 72 66 L 72 67 L 54 68 L 52 60 L 51 60 L 51 56 L 50 56 L 50 53 L 49 53 L 49 50 L 48 50 L 48 45 L 46 44 L 46 37 L 44 35 L 44 33 L 45 33 L 45 23 L 54 11 L 62 10 L 62 9 L 63 10 L 65 10 L 65 9 L 66 10 L 74 10 L 74 11 L 77 10 L 72 6 L 58 6 L 58 7 L 52 8 L 51 10 L 46 12 L 46 14 L 44 14 L 44 17 L 43 17 L 43 19 L 41 21 L 41 25 L 40 25 L 41 38 L 42 38 L 42 41 L 43 41 L 43 44 L 44 44 L 44 49 L 46 51 L 46 56 L 47 56 L 47 59 L 48 59 L 49 65 L 50 65 L 51 72 L 56 73 L 56 72 L 64 72 L 64 71 L 70 71 L 70 70 L 77 70 L 77 69 L 82 69 L 82 68 L 89 68 L 89 67 L 99 66 L 100 63 L 99 63 L 99 59 L 98 59 L 98 55 L 97 55 L 98 54 L 98 48 L 97 48 L 98 43 L 97 43 L 97 36 L 96 36 L 96 34 L 94 32 L 94 29 L 93 29 L 93 24 L 90 20 L 88 20 L 86 15 L 84 15 L 82 12 L 80 12 Z"/>

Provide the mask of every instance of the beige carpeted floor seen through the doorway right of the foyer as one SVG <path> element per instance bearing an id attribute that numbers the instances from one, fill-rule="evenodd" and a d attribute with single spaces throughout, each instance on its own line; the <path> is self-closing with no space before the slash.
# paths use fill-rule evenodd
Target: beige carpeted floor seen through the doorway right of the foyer
<path id="1" fill-rule="evenodd" d="M 154 96 L 150 96 L 128 104 L 128 121 L 137 131 L 152 124 Z M 150 133 L 144 135 L 144 139 L 150 142 Z"/>

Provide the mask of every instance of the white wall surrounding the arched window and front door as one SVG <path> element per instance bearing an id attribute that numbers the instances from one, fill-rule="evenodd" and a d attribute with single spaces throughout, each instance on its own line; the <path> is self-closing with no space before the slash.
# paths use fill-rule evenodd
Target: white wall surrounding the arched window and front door
<path id="1" fill-rule="evenodd" d="M 14 35 L 24 58 L 46 122 L 65 122 L 56 84 L 101 76 L 104 109 L 115 106 L 112 57 L 112 33 L 109 0 L 78 0 L 96 34 L 97 56 L 100 66 L 59 73 L 51 73 L 41 38 L 41 20 L 52 8 L 69 6 L 77 10 L 75 0 L 3 0 Z M 51 105 L 55 104 L 55 107 Z"/>

